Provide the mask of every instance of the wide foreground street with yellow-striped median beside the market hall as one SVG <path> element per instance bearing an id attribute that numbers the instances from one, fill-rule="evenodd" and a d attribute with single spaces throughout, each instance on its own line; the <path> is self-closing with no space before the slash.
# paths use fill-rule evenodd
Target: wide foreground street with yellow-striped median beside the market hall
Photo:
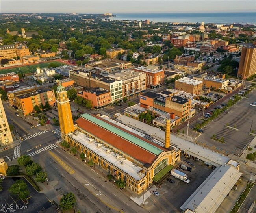
<path id="1" fill-rule="evenodd" d="M 49 183 L 58 180 L 58 184 L 54 186 L 58 194 L 72 191 L 76 195 L 77 209 L 80 211 L 147 212 L 129 200 L 115 183 L 104 178 L 102 169 L 96 166 L 94 171 L 61 148 L 37 154 L 33 156 L 33 160 L 46 168 Z M 107 175 L 106 172 L 104 175 Z"/>

